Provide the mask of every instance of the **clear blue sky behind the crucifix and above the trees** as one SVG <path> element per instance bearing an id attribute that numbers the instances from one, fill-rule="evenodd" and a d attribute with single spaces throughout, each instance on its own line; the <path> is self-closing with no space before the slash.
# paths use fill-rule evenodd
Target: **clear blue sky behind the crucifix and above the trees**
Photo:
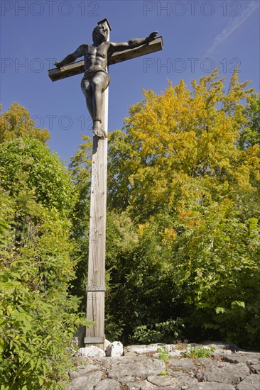
<path id="1" fill-rule="evenodd" d="M 1 1 L 3 109 L 17 101 L 48 128 L 51 150 L 70 161 L 91 121 L 80 90 L 81 75 L 51 82 L 48 69 L 82 43 L 92 43 L 97 21 L 108 18 L 110 40 L 163 36 L 163 50 L 109 68 L 109 131 L 122 128 L 142 88 L 161 93 L 220 67 L 227 77 L 239 64 L 240 80 L 259 91 L 259 0 L 223 1 Z"/>

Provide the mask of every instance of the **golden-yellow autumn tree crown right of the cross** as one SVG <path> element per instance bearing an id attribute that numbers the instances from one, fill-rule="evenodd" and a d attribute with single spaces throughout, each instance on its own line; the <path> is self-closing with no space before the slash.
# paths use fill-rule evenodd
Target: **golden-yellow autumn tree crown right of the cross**
<path id="1" fill-rule="evenodd" d="M 142 218 L 183 213 L 195 204 L 219 202 L 238 188 L 251 190 L 252 177 L 259 179 L 259 147 L 237 147 L 247 123 L 241 100 L 250 98 L 251 89 L 238 82 L 237 69 L 227 93 L 223 80 L 215 70 L 194 80 L 192 90 L 183 81 L 175 87 L 169 82 L 162 94 L 143 91 L 143 101 L 131 106 L 119 145 L 119 150 L 125 145 L 124 155 L 117 150 L 121 167 L 115 160 L 111 169 L 124 178 L 135 216 L 136 211 Z M 112 157 L 118 135 L 112 135 Z"/>

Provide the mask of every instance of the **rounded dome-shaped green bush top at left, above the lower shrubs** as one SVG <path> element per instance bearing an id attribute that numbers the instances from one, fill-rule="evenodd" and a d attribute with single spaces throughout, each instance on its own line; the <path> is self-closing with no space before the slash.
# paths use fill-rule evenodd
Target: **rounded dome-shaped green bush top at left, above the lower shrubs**
<path id="1" fill-rule="evenodd" d="M 1 144 L 1 186 L 19 202 L 29 197 L 67 216 L 75 206 L 75 188 L 55 153 L 38 140 L 16 138 Z"/>

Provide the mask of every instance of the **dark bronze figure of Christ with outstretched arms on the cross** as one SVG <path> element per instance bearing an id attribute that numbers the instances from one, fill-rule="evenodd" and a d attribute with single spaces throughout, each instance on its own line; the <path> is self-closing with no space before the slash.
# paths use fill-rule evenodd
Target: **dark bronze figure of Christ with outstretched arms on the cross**
<path id="1" fill-rule="evenodd" d="M 92 33 L 93 43 L 80 45 L 72 54 L 64 60 L 55 62 L 58 69 L 74 62 L 79 57 L 84 57 L 85 74 L 81 82 L 82 92 L 85 95 L 88 111 L 93 121 L 93 133 L 99 138 L 106 138 L 107 133 L 102 126 L 102 93 L 109 85 L 107 64 L 114 52 L 122 52 L 126 49 L 138 48 L 146 45 L 157 37 L 157 31 L 153 31 L 147 38 L 134 38 L 124 43 L 107 41 L 109 31 L 107 25 L 98 24 Z"/>

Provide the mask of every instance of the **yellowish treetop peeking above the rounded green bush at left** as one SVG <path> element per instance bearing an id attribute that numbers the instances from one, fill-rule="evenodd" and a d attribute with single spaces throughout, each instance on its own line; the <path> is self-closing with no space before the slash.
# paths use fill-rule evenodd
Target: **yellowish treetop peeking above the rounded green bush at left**
<path id="1" fill-rule="evenodd" d="M 0 104 L 1 111 L 1 104 Z M 20 106 L 13 103 L 5 113 L 0 117 L 0 143 L 13 140 L 18 137 L 30 137 L 46 143 L 50 139 L 47 129 L 37 128 L 36 121 L 30 117 L 30 113 Z"/>

